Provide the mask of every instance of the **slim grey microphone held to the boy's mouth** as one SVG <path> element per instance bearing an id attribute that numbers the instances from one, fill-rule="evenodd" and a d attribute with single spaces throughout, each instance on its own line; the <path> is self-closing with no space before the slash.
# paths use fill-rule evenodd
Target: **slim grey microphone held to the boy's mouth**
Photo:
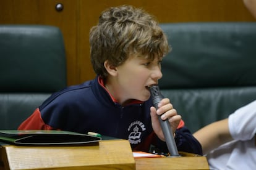
<path id="1" fill-rule="evenodd" d="M 160 92 L 160 89 L 157 85 L 150 87 L 150 92 L 153 99 L 153 105 L 158 109 L 158 103 L 164 98 L 163 95 Z M 160 115 L 158 116 L 158 119 L 161 124 L 161 128 L 164 134 L 164 139 L 166 140 L 166 145 L 168 147 L 169 153 L 171 156 L 179 156 L 179 153 L 177 151 L 177 146 L 173 137 L 173 130 L 171 129 L 171 126 L 169 124 L 168 119 L 163 120 L 160 118 Z"/>

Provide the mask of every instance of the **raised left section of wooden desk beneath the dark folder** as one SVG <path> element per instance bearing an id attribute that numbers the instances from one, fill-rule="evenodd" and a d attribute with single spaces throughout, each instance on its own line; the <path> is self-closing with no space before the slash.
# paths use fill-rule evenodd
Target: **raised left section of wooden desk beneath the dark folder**
<path id="1" fill-rule="evenodd" d="M 128 140 L 103 140 L 92 146 L 4 145 L 1 160 L 2 169 L 135 169 Z"/>

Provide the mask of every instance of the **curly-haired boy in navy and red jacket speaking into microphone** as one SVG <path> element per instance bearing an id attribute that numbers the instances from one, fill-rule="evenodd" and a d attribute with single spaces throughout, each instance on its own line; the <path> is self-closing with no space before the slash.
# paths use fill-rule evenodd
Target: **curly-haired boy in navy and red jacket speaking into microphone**
<path id="1" fill-rule="evenodd" d="M 96 78 L 51 95 L 20 130 L 92 131 L 128 139 L 132 150 L 148 152 L 153 144 L 166 152 L 161 115 L 174 129 L 179 151 L 202 153 L 169 99 L 161 100 L 157 111 L 152 107 L 149 87 L 162 77 L 169 46 L 150 14 L 132 6 L 105 10 L 90 30 L 90 46 Z"/>

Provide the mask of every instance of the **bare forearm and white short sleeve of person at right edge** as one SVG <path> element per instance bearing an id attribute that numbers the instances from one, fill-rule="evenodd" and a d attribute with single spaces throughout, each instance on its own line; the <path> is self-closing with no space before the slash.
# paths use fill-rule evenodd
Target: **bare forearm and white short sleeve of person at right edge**
<path id="1" fill-rule="evenodd" d="M 237 109 L 229 118 L 211 123 L 194 133 L 203 154 L 236 140 L 250 140 L 256 133 L 256 100 Z"/>

